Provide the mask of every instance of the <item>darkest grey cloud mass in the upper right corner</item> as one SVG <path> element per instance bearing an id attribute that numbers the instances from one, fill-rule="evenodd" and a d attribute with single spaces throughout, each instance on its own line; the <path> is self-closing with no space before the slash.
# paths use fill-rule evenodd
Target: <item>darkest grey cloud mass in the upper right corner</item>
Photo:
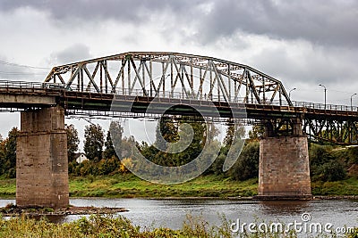
<path id="1" fill-rule="evenodd" d="M 215 1 L 206 19 L 206 39 L 237 30 L 278 39 L 305 39 L 314 44 L 357 46 L 356 1 Z"/>

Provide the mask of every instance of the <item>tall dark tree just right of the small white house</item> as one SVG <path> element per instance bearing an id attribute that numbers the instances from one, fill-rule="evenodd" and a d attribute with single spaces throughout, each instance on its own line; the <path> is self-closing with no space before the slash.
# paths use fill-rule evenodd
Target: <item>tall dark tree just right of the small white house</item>
<path id="1" fill-rule="evenodd" d="M 83 151 L 87 158 L 98 162 L 102 160 L 103 145 L 105 144 L 105 135 L 101 126 L 91 124 L 84 129 Z"/>

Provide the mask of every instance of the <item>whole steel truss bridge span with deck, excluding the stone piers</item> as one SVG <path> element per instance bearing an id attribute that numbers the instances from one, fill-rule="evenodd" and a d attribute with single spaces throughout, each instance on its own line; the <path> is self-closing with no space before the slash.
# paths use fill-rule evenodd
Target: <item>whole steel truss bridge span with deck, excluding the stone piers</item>
<path id="1" fill-rule="evenodd" d="M 55 101 L 19 99 L 29 95 Z M 300 123 L 303 134 L 315 142 L 358 144 L 357 107 L 292 102 L 276 78 L 247 65 L 192 54 L 120 53 L 56 66 L 44 83 L 0 81 L 2 111 L 55 104 L 69 116 L 156 117 L 166 111 L 243 119 L 269 127 L 273 136 L 291 135 Z"/>

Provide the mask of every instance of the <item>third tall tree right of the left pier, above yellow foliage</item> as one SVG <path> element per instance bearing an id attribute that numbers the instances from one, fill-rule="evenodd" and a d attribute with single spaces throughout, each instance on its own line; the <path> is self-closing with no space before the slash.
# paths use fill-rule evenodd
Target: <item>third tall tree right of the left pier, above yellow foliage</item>
<path id="1" fill-rule="evenodd" d="M 106 137 L 106 149 L 105 152 L 103 152 L 103 156 L 106 159 L 112 158 L 113 156 L 116 158 L 122 157 L 122 135 L 123 127 L 119 121 L 111 121 Z"/>

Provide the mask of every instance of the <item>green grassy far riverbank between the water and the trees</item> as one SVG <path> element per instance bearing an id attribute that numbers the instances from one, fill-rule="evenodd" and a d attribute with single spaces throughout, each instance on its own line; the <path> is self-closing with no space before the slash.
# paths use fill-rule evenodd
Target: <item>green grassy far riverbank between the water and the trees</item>
<path id="1" fill-rule="evenodd" d="M 358 178 L 312 182 L 313 195 L 357 195 Z M 131 174 L 70 177 L 72 197 L 246 197 L 257 194 L 258 180 L 233 181 L 222 176 L 199 176 L 180 185 L 156 185 Z M 0 179 L 0 197 L 14 197 L 15 179 Z"/>

